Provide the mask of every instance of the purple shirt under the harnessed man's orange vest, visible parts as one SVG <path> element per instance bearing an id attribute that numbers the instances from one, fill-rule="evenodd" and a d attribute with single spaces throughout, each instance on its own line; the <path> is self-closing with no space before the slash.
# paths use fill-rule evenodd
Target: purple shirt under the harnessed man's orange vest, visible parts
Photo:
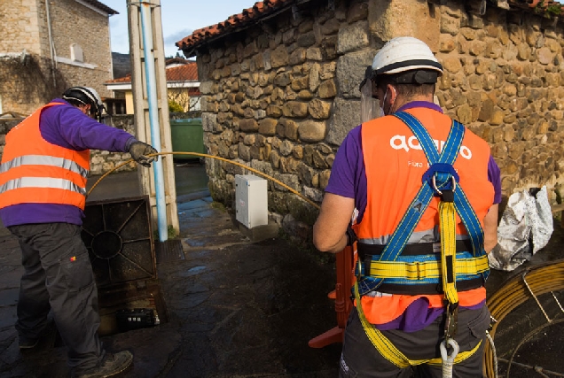
<path id="1" fill-rule="evenodd" d="M 427 107 L 437 112 L 443 112 L 438 105 L 425 101 L 405 104 L 397 112 L 415 107 Z M 329 183 L 325 188 L 328 193 L 355 199 L 355 207 L 358 210 L 357 222 L 363 219 L 367 202 L 367 181 L 362 151 L 361 127 L 353 128 L 341 143 L 333 161 Z M 495 160 L 491 157 L 488 162 L 488 180 L 494 187 L 493 202 L 499 204 L 501 202 L 501 174 Z M 483 304 L 484 302 L 474 305 L 470 309 L 481 308 Z M 378 324 L 376 328 L 380 330 L 402 329 L 405 332 L 414 332 L 426 328 L 442 314 L 442 308 L 429 308 L 427 299 L 422 297 L 409 305 L 398 318 L 386 324 Z"/>

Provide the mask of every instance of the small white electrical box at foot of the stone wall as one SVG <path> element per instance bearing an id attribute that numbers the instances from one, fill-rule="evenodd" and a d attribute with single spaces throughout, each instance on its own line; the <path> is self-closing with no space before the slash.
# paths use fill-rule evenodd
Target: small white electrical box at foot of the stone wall
<path id="1" fill-rule="evenodd" d="M 236 219 L 246 228 L 267 225 L 268 197 L 266 180 L 253 174 L 235 175 Z"/>

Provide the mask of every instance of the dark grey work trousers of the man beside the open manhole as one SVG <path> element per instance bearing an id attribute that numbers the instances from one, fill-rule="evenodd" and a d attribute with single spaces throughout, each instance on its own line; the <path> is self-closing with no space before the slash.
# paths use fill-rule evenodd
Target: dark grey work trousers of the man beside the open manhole
<path id="1" fill-rule="evenodd" d="M 21 277 L 18 321 L 20 336 L 37 338 L 52 311 L 68 366 L 88 369 L 104 357 L 98 338 L 98 290 L 81 230 L 69 223 L 44 223 L 8 228 L 18 236 Z"/>

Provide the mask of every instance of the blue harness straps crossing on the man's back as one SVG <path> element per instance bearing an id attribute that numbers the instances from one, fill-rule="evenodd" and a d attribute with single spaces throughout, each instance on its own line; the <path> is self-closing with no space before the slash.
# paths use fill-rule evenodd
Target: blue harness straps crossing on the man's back
<path id="1" fill-rule="evenodd" d="M 430 167 L 427 172 L 423 174 L 422 185 L 419 192 L 411 201 L 402 220 L 400 220 L 396 230 L 390 236 L 388 243 L 380 254 L 379 260 L 396 261 L 398 256 L 401 255 L 413 230 L 418 225 L 421 216 L 427 210 L 431 198 L 440 190 L 453 189 L 454 207 L 465 225 L 468 236 L 472 242 L 472 255 L 474 258 L 483 256 L 485 251 L 483 251 L 483 230 L 480 220 L 478 220 L 464 190 L 459 185 L 457 185 L 455 189 L 455 181 L 458 182 L 459 177 L 452 165 L 458 158 L 458 151 L 464 139 L 465 127 L 456 120 L 452 120 L 452 126 L 450 127 L 447 140 L 443 145 L 443 151 L 439 154 L 438 146 L 435 146 L 431 135 L 428 134 L 427 129 L 423 127 L 417 118 L 408 112 L 397 112 L 394 116 L 402 120 L 407 127 L 410 127 L 411 132 L 418 139 L 419 145 L 425 153 Z M 385 278 L 375 278 L 364 274 L 366 274 L 366 272 L 364 272 L 364 267 L 361 266 L 360 269 L 357 270 L 358 290 L 361 296 L 369 291 L 378 289 L 383 282 L 388 281 Z M 482 273 L 482 278 L 485 280 L 488 274 L 489 272 Z M 421 283 L 424 282 L 429 282 L 429 280 L 421 281 Z"/>

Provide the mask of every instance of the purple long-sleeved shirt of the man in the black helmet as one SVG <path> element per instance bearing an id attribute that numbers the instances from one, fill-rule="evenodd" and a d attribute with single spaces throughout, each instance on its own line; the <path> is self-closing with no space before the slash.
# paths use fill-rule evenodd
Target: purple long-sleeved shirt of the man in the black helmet
<path id="1" fill-rule="evenodd" d="M 39 120 L 43 138 L 69 150 L 109 150 L 127 152 L 133 135 L 114 127 L 98 123 L 77 107 L 60 98 L 52 103 L 63 105 L 44 109 Z M 82 225 L 84 213 L 71 204 L 12 204 L 0 209 L 5 227 L 33 223 L 65 222 Z"/>

